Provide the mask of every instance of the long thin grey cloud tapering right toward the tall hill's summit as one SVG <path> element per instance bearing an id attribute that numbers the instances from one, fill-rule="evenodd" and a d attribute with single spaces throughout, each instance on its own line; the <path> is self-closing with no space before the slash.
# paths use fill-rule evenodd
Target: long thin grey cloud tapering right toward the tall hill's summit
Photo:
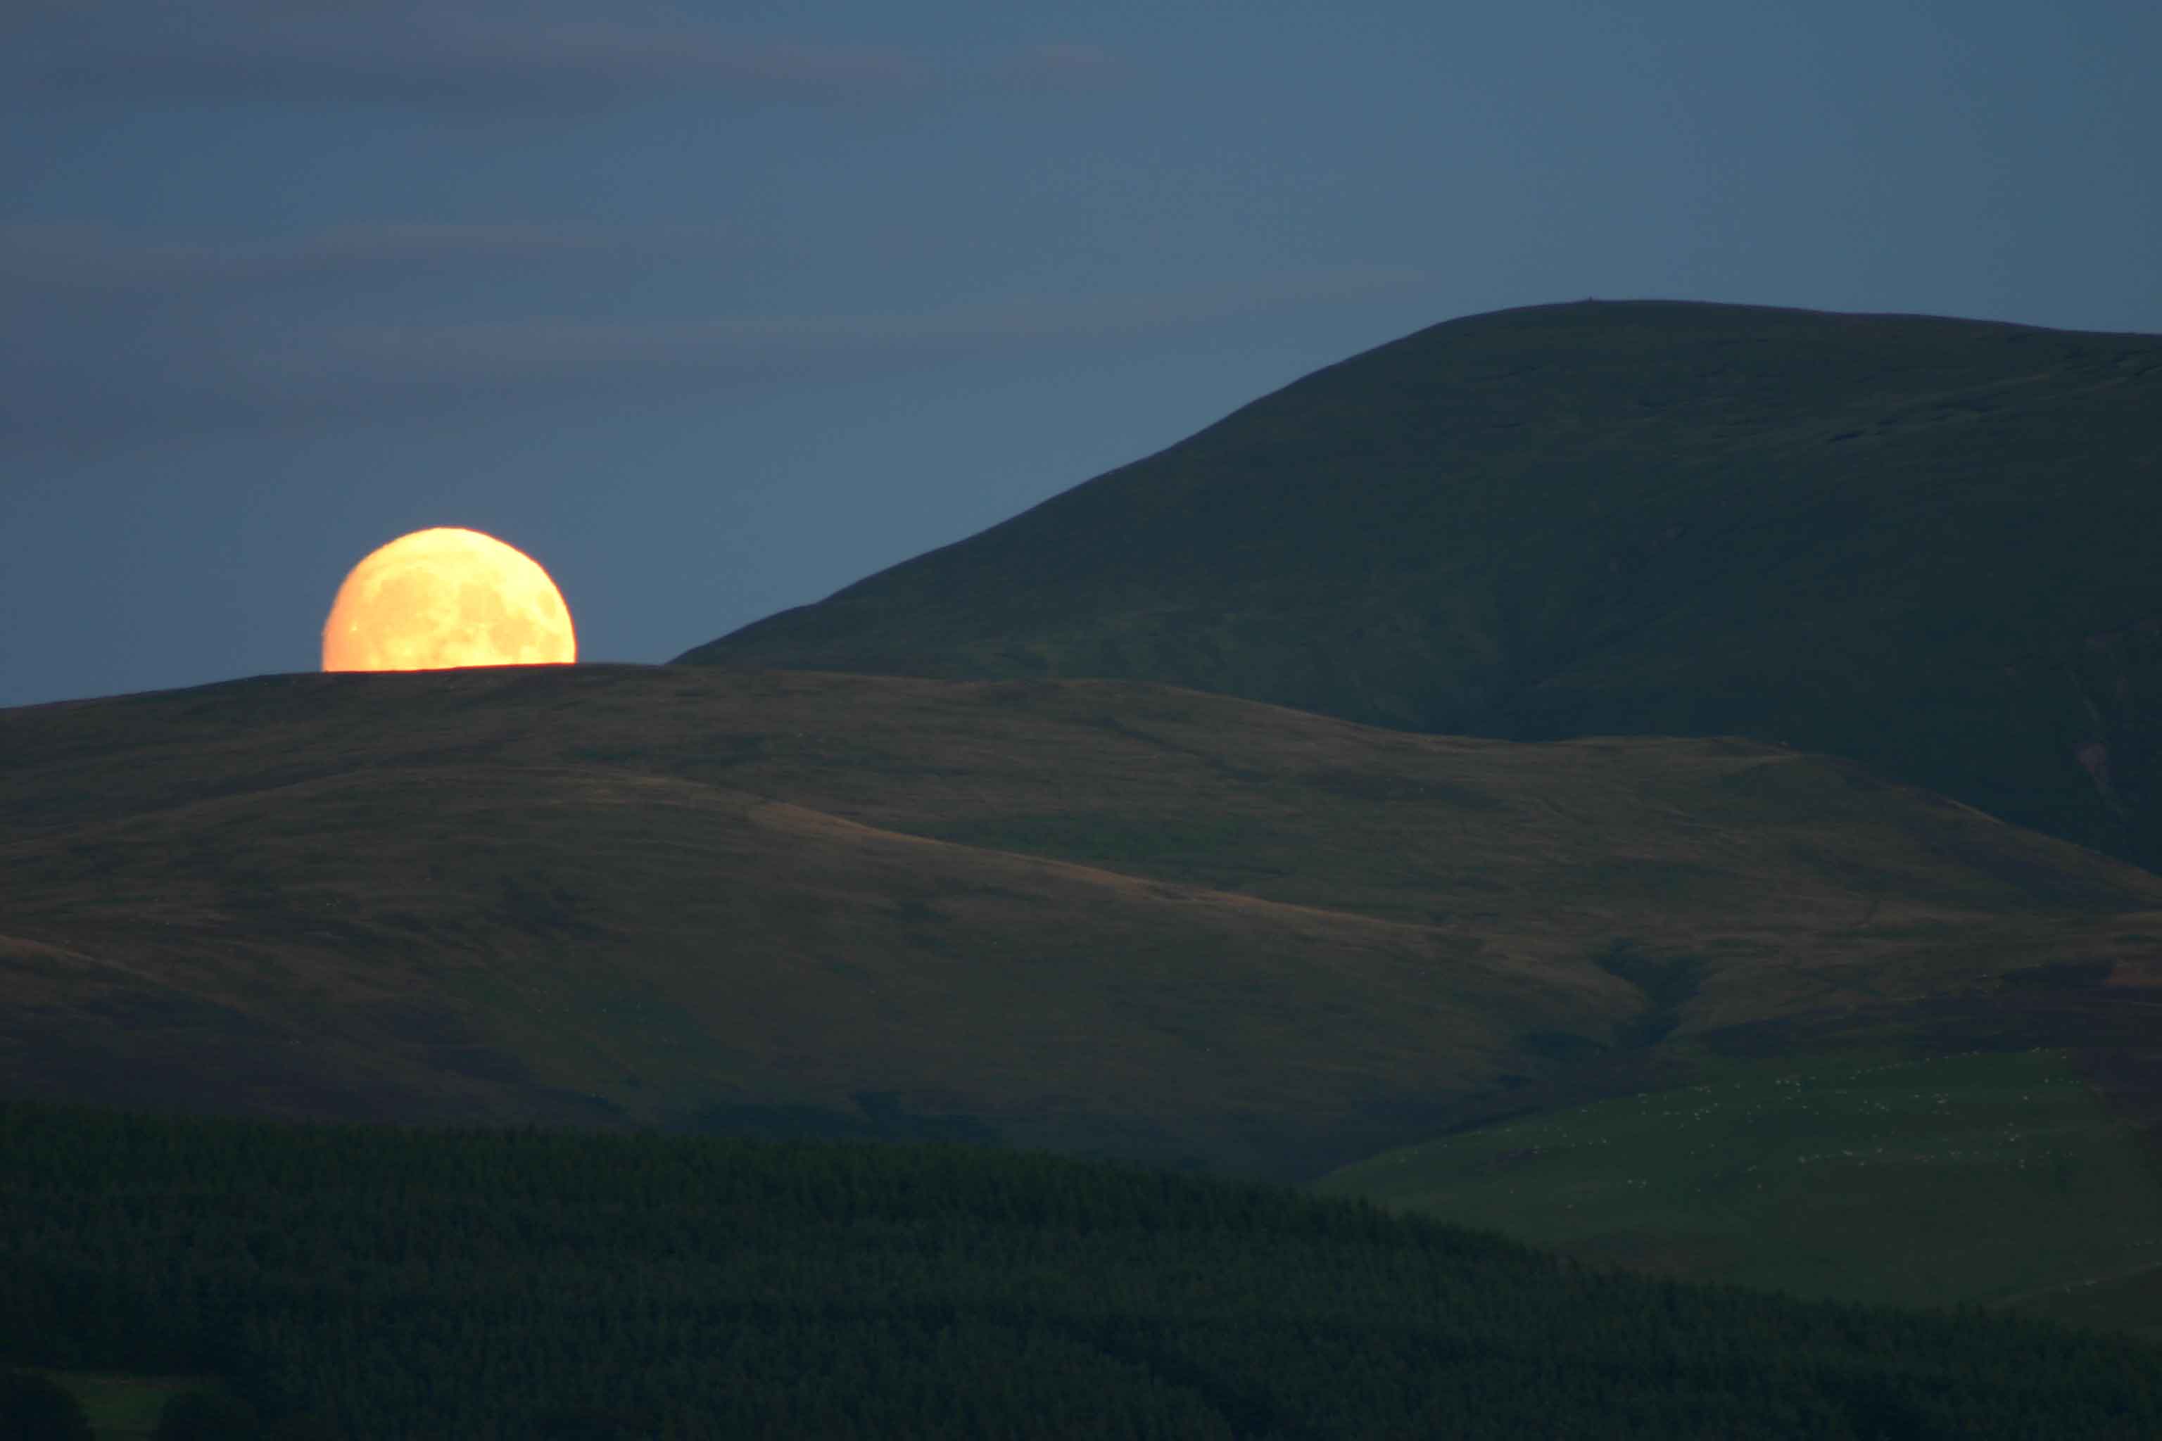
<path id="1" fill-rule="evenodd" d="M 1425 281 L 1327 266 L 1163 294 L 997 300 L 921 313 L 677 322 L 430 318 L 350 324 L 225 307 L 48 313 L 37 348 L 0 352 L 0 447 L 99 449 L 214 430 L 313 430 L 839 385 L 938 365 L 1016 363 L 1343 302 Z"/>

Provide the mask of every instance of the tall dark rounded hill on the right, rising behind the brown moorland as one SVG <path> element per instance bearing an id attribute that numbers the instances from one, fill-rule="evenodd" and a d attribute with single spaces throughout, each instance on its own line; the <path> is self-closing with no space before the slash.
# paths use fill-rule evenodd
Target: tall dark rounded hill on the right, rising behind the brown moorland
<path id="1" fill-rule="evenodd" d="M 681 657 L 1749 735 L 2162 862 L 2162 337 L 1583 302 L 1317 372 Z"/>

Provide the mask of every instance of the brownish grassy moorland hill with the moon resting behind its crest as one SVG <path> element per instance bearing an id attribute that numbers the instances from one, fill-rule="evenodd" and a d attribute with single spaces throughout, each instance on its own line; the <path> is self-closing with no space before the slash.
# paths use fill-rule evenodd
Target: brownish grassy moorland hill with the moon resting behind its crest
<path id="1" fill-rule="evenodd" d="M 534 668 L 0 713 L 0 1087 L 1308 1177 L 1706 1056 L 2076 1046 L 2162 879 L 1745 741 Z"/>

